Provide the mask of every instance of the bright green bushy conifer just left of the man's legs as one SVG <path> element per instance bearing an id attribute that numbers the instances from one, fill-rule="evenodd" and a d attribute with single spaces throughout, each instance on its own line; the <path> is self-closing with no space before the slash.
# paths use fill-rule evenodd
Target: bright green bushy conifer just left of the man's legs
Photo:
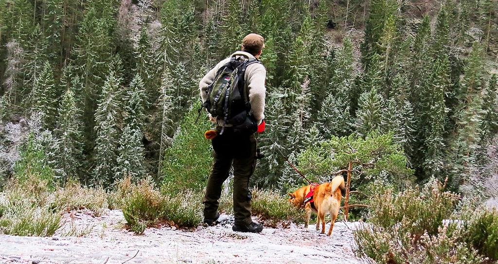
<path id="1" fill-rule="evenodd" d="M 167 148 L 162 161 L 162 184 L 170 190 L 182 190 L 184 186 L 201 190 L 207 181 L 212 157 L 210 141 L 204 132 L 210 129 L 210 122 L 200 118 L 196 124 L 199 104 L 191 110 L 180 123 L 173 137 L 171 147 Z"/>

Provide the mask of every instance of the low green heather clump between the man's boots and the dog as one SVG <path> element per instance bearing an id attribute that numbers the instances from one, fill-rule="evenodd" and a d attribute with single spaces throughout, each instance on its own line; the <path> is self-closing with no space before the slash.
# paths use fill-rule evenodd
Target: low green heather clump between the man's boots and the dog
<path id="1" fill-rule="evenodd" d="M 252 214 L 264 217 L 265 225 L 275 226 L 278 221 L 293 221 L 302 223 L 304 212 L 294 207 L 287 198 L 275 191 L 251 190 Z"/>

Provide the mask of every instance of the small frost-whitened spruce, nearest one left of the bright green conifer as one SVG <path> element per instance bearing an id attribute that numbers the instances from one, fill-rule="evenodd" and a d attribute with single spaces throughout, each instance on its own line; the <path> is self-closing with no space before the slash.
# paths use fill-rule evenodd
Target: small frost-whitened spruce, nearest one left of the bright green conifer
<path id="1" fill-rule="evenodd" d="M 141 144 L 142 133 L 126 126 L 120 137 L 119 155 L 115 169 L 116 180 L 124 177 L 138 179 L 143 176 L 143 146 Z"/>

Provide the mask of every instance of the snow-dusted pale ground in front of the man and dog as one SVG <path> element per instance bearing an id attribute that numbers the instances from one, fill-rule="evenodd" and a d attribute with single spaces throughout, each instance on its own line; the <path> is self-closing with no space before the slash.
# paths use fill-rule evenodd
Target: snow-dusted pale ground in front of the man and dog
<path id="1" fill-rule="evenodd" d="M 133 235 L 123 229 L 120 210 L 96 218 L 72 212 L 64 219 L 53 237 L 1 235 L 0 263 L 361 263 L 353 253 L 352 229 L 358 223 L 336 223 L 331 237 L 319 234 L 314 225 L 246 234 L 233 232 L 233 217 L 222 215 L 218 226 L 194 232 L 149 228 Z"/>

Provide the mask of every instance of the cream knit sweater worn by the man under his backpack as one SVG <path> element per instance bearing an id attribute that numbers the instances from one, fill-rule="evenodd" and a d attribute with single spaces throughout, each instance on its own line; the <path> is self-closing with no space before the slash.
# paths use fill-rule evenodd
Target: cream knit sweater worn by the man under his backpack
<path id="1" fill-rule="evenodd" d="M 202 78 L 199 83 L 199 89 L 201 90 L 201 98 L 204 103 L 208 97 L 208 86 L 212 84 L 215 80 L 216 73 L 225 64 L 230 61 L 231 57 L 244 56 L 248 59 L 254 59 L 250 53 L 244 51 L 237 51 L 230 57 L 220 61 L 216 66 L 211 69 Z M 266 69 L 260 63 L 254 63 L 247 67 L 246 74 L 244 75 L 244 80 L 246 82 L 246 87 L 249 91 L 249 103 L 254 119 L 256 119 L 257 124 L 260 124 L 264 119 L 264 95 L 266 88 L 264 87 L 264 81 L 266 78 Z M 218 125 L 223 126 L 223 120 L 217 120 Z"/>

